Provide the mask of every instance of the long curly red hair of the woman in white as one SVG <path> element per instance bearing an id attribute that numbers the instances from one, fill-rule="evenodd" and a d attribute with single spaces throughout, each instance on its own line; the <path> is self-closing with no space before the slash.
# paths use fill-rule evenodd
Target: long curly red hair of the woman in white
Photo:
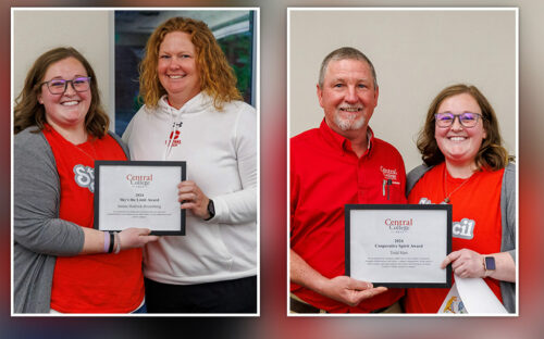
<path id="1" fill-rule="evenodd" d="M 172 17 L 162 23 L 147 40 L 146 55 L 139 70 L 139 90 L 144 103 L 157 106 L 159 99 L 166 93 L 157 75 L 159 49 L 166 34 L 184 32 L 190 35 L 196 48 L 196 63 L 200 73 L 200 90 L 213 98 L 213 105 L 221 110 L 224 102 L 242 100 L 236 88 L 236 76 L 210 28 L 201 21 L 189 17 Z"/>

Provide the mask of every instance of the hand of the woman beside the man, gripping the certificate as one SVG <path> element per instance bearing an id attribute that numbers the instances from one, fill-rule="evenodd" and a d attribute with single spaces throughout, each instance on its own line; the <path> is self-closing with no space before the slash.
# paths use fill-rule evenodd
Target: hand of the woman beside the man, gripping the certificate
<path id="1" fill-rule="evenodd" d="M 446 268 L 449 263 L 458 277 L 483 278 L 485 276 L 483 255 L 469 249 L 449 253 L 442 262 L 441 268 Z"/>

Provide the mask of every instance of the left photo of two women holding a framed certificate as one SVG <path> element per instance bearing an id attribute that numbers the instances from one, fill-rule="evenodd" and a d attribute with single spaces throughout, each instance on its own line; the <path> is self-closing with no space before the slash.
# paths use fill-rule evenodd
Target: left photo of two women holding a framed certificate
<path id="1" fill-rule="evenodd" d="M 12 316 L 260 315 L 259 10 L 11 23 Z"/>

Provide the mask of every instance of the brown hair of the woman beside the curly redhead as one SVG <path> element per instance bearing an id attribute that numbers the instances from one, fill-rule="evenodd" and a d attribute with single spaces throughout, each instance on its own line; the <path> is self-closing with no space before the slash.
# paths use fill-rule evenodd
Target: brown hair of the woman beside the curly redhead
<path id="1" fill-rule="evenodd" d="M 29 126 L 37 126 L 38 130 L 44 129 L 46 121 L 46 109 L 38 102 L 38 96 L 41 91 L 40 84 L 50 65 L 61 60 L 74 58 L 79 61 L 87 75 L 90 77 L 91 100 L 89 111 L 85 115 L 85 129 L 95 136 L 103 137 L 108 133 L 110 118 L 102 109 L 100 95 L 96 81 L 95 71 L 89 62 L 76 49 L 72 47 L 60 47 L 41 54 L 33 64 L 26 75 L 23 90 L 15 99 L 15 109 L 13 110 L 13 128 L 17 134 Z"/>

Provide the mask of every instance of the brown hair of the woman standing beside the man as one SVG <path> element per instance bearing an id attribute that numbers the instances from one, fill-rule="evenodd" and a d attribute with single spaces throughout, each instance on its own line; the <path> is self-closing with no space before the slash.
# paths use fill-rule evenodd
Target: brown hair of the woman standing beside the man
<path id="1" fill-rule="evenodd" d="M 431 166 L 444 161 L 444 154 L 436 143 L 434 137 L 435 117 L 442 102 L 453 96 L 468 93 L 478 102 L 482 110 L 482 123 L 486 137 L 480 146 L 474 162 L 478 168 L 489 168 L 497 171 L 504 168 L 514 156 L 508 155 L 508 151 L 503 147 L 503 139 L 498 129 L 498 122 L 495 111 L 480 90 L 470 85 L 453 85 L 444 88 L 433 100 L 426 113 L 425 125 L 418 137 L 418 149 L 422 154 L 423 162 Z"/>

